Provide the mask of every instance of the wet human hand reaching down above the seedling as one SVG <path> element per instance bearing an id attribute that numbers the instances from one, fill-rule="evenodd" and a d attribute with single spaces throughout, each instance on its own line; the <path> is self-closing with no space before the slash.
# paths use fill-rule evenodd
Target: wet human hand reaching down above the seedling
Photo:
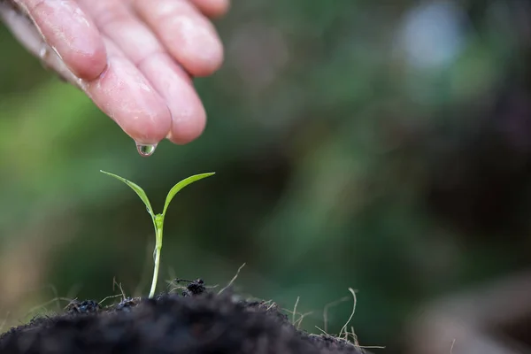
<path id="1" fill-rule="evenodd" d="M 223 46 L 209 19 L 227 12 L 228 2 L 0 0 L 0 16 L 135 142 L 183 144 L 204 130 L 190 76 L 221 65 Z"/>

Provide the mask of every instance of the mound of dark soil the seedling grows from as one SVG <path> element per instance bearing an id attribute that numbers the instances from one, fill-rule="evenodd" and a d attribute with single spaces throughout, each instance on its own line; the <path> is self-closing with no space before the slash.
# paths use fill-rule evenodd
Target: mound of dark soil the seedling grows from
<path id="1" fill-rule="evenodd" d="M 201 280 L 181 294 L 124 298 L 102 307 L 73 301 L 0 336 L 10 354 L 360 354 L 351 342 L 299 331 L 276 304 L 217 295 Z"/>

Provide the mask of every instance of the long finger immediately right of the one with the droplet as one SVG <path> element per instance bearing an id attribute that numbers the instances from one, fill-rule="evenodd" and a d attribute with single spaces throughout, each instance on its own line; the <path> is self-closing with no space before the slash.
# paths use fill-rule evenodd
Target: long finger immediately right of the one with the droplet
<path id="1" fill-rule="evenodd" d="M 175 143 L 196 139 L 204 130 L 205 112 L 189 75 L 175 64 L 150 28 L 136 19 L 127 7 L 112 1 L 99 4 L 87 7 L 96 25 L 143 73 L 169 108 L 172 125 L 168 138 Z"/>

